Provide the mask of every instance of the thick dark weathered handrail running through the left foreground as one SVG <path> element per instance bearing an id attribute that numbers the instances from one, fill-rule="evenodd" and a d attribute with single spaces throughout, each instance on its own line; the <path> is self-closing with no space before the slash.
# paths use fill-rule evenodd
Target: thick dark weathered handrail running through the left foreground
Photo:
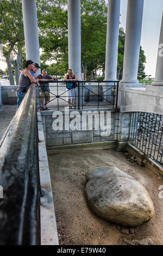
<path id="1" fill-rule="evenodd" d="M 0 142 L 0 245 L 40 244 L 35 84 Z"/>

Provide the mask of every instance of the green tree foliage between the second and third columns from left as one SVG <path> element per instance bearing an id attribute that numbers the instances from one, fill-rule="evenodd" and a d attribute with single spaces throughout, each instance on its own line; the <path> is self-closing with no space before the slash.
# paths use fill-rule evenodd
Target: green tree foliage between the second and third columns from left
<path id="1" fill-rule="evenodd" d="M 91 78 L 93 70 L 104 66 L 107 6 L 104 0 L 81 1 L 82 71 Z"/>

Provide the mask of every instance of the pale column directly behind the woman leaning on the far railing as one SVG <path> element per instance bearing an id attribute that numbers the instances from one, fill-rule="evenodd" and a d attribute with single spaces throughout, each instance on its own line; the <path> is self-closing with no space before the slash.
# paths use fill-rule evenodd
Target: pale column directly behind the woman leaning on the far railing
<path id="1" fill-rule="evenodd" d="M 81 78 L 80 0 L 68 0 L 68 68 Z"/>

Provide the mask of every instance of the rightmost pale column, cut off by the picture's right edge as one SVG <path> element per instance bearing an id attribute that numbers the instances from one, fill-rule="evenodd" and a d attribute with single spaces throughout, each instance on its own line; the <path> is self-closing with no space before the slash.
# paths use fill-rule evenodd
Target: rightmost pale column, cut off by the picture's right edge
<path id="1" fill-rule="evenodd" d="M 155 71 L 155 80 L 152 83 L 153 86 L 163 86 L 163 14 L 161 22 L 161 31 L 160 31 L 160 40 L 159 40 L 159 49 L 158 49 L 158 59 L 156 64 Z"/>

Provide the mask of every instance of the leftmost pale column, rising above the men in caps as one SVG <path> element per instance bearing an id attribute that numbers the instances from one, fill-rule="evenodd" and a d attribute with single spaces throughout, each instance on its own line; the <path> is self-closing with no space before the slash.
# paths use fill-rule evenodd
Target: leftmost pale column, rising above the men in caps
<path id="1" fill-rule="evenodd" d="M 22 0 L 26 59 L 40 65 L 36 0 Z"/>

